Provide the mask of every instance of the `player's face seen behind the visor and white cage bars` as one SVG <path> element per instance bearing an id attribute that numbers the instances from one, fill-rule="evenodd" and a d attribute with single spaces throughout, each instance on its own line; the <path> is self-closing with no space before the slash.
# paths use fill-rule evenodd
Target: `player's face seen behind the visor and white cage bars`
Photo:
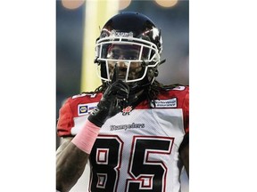
<path id="1" fill-rule="evenodd" d="M 134 80 L 142 76 L 142 62 L 138 60 L 140 47 L 129 44 L 115 44 L 109 48 L 107 59 L 109 75 L 112 79 L 114 66 L 119 68 L 119 79 Z M 143 58 L 144 59 L 144 58 Z M 138 60 L 138 61 L 133 61 Z"/>

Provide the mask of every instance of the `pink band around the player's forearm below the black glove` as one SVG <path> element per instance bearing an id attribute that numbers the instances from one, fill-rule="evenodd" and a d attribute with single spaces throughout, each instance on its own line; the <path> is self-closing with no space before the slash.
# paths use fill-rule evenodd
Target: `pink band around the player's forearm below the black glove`
<path id="1" fill-rule="evenodd" d="M 90 154 L 99 131 L 100 127 L 87 120 L 71 142 L 87 154 Z"/>

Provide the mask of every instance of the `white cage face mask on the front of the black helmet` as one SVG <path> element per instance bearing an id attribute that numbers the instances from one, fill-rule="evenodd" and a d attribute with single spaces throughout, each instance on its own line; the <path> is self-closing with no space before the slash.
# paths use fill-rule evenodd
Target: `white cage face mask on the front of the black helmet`
<path id="1" fill-rule="evenodd" d="M 101 63 L 97 75 L 104 81 L 112 80 L 115 64 L 119 67 L 120 80 L 126 83 L 141 81 L 147 69 L 157 66 L 160 60 L 155 44 L 134 37 L 105 37 L 98 40 L 95 47 Z"/>

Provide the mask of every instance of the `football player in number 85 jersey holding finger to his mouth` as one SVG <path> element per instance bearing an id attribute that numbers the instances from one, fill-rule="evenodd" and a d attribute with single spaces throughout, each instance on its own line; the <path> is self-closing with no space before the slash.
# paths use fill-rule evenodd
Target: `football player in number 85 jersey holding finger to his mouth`
<path id="1" fill-rule="evenodd" d="M 88 191 L 181 190 L 189 177 L 189 87 L 156 81 L 162 36 L 152 20 L 121 12 L 95 44 L 102 85 L 60 108 L 56 189 L 69 191 L 90 164 Z M 85 189 L 86 190 L 86 189 Z"/>

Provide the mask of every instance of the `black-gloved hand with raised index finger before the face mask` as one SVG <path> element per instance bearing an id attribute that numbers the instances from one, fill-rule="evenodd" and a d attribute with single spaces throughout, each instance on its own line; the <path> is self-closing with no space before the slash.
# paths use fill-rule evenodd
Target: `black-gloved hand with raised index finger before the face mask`
<path id="1" fill-rule="evenodd" d="M 127 104 L 129 85 L 119 80 L 119 68 L 115 65 L 112 83 L 105 90 L 102 99 L 93 110 L 88 120 L 98 127 L 105 121 L 119 113 Z"/>

